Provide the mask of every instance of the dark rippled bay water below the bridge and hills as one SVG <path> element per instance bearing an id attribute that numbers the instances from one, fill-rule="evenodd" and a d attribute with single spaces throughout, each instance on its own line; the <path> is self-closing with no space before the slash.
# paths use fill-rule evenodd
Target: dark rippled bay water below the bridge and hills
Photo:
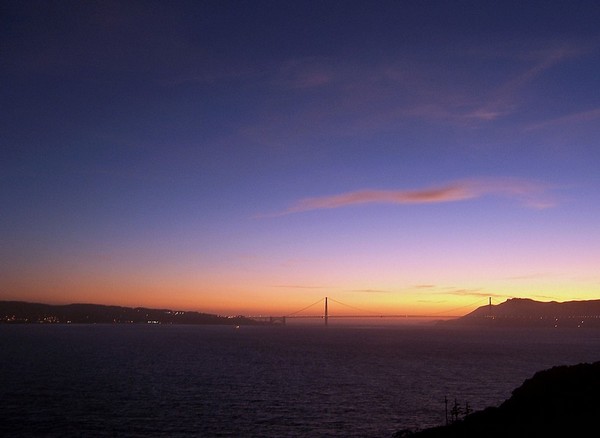
<path id="1" fill-rule="evenodd" d="M 582 329 L 4 325 L 0 435 L 390 437 L 599 347 Z"/>

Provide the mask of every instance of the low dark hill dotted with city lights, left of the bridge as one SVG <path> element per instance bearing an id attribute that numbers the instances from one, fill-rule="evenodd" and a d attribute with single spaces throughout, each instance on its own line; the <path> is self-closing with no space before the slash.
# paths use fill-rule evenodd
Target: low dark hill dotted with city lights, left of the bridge
<path id="1" fill-rule="evenodd" d="M 0 301 L 0 323 L 63 324 L 258 324 L 243 316 L 99 304 L 49 305 L 24 301 Z"/>

